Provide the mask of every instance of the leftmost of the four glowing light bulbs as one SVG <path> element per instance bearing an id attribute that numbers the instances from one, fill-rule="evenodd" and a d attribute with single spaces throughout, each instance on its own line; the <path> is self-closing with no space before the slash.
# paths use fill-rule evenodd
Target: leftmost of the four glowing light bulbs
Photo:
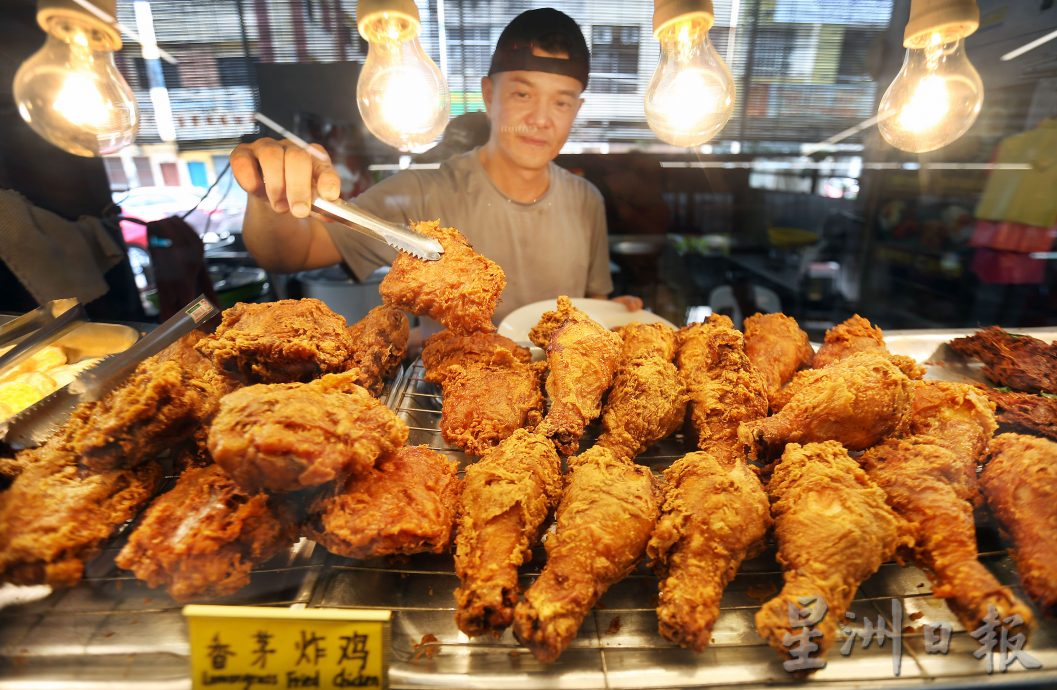
<path id="1" fill-rule="evenodd" d="M 97 35 L 67 18 L 15 74 L 15 102 L 30 127 L 76 155 L 113 153 L 135 139 L 140 110 Z"/>

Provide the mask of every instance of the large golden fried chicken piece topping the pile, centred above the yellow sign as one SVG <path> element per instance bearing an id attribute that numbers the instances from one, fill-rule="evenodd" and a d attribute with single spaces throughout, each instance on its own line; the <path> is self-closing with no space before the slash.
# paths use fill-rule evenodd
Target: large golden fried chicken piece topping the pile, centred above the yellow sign
<path id="1" fill-rule="evenodd" d="M 407 442 L 408 428 L 357 372 L 311 384 L 258 384 L 225 395 L 209 452 L 245 491 L 296 491 L 360 474 Z"/>

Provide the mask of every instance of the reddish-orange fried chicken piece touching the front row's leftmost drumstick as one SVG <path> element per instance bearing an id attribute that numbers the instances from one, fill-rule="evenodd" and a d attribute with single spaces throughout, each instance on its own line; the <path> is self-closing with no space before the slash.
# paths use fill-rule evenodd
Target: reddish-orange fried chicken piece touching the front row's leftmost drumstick
<path id="1" fill-rule="evenodd" d="M 405 446 L 317 498 L 304 536 L 349 558 L 442 554 L 459 507 L 458 470 L 459 463 L 426 446 Z"/>

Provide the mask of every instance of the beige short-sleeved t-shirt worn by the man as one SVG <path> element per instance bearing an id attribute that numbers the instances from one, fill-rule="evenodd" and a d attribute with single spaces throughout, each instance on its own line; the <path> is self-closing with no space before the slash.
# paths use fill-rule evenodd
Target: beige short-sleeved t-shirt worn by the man
<path id="1" fill-rule="evenodd" d="M 440 220 L 459 228 L 506 274 L 495 316 L 500 321 L 532 302 L 558 295 L 609 295 L 613 290 L 601 194 L 587 180 L 550 165 L 546 193 L 532 204 L 504 197 L 476 149 L 435 170 L 407 170 L 383 180 L 353 203 L 394 222 Z M 328 230 L 360 279 L 396 256 L 382 242 L 347 228 L 329 224 Z"/>

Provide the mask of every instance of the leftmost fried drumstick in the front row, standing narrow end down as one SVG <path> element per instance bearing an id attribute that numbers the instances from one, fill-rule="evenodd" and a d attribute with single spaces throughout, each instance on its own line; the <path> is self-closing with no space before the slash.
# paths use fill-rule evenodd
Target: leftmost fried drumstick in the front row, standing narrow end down
<path id="1" fill-rule="evenodd" d="M 518 567 L 561 496 L 561 461 L 542 435 L 518 429 L 466 468 L 456 532 L 456 623 L 498 636 L 514 620 Z"/>

